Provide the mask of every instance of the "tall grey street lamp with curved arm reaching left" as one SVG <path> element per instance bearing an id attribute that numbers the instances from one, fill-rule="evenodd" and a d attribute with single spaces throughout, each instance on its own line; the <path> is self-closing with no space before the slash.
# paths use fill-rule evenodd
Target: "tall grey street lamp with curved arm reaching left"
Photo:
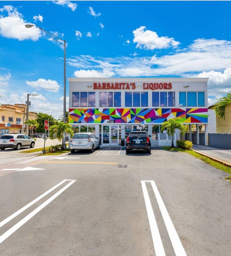
<path id="1" fill-rule="evenodd" d="M 36 25 L 32 25 L 32 24 L 26 24 L 25 25 L 26 28 L 31 28 L 31 27 L 38 27 Z M 50 37 L 52 37 L 56 42 L 58 42 L 59 44 L 61 44 L 62 46 L 64 46 L 64 93 L 63 93 L 63 122 L 66 124 L 66 40 L 62 40 L 61 38 L 59 38 L 58 36 L 53 35 L 52 33 L 46 31 L 45 29 L 38 27 L 39 29 L 41 29 L 44 33 L 48 34 Z M 62 41 L 63 43 L 61 43 L 60 41 Z M 67 148 L 66 145 L 66 139 L 65 139 L 65 134 L 63 136 L 63 148 Z"/>

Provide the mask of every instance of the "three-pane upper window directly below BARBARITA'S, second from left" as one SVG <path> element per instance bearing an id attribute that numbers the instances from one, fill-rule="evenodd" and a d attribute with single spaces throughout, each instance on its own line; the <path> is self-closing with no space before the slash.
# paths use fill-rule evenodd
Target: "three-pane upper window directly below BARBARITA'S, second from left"
<path id="1" fill-rule="evenodd" d="M 121 92 L 100 92 L 100 107 L 121 107 Z"/>

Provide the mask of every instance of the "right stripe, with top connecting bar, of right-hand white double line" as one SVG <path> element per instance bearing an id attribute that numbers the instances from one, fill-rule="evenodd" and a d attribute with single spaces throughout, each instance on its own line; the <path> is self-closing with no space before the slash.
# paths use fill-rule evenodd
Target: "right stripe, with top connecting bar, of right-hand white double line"
<path id="1" fill-rule="evenodd" d="M 180 241 L 180 238 L 175 230 L 175 227 L 171 221 L 171 218 L 167 212 L 167 209 L 164 205 L 164 202 L 160 196 L 160 193 L 157 189 L 157 186 L 154 182 L 154 180 L 145 180 L 144 182 L 151 182 L 151 185 L 152 185 L 152 189 L 154 191 L 154 194 L 155 194 L 155 197 L 156 197 L 156 201 L 158 203 L 158 206 L 160 208 L 160 212 L 162 214 L 162 217 L 163 217 L 163 220 L 164 220 L 164 223 L 165 223 L 165 226 L 167 228 L 167 231 L 168 231 L 168 235 L 169 235 L 169 238 L 172 242 L 172 246 L 173 246 L 173 249 L 174 249 L 174 252 L 176 254 L 176 256 L 187 256 L 186 255 L 186 252 L 184 250 L 184 247 Z"/>

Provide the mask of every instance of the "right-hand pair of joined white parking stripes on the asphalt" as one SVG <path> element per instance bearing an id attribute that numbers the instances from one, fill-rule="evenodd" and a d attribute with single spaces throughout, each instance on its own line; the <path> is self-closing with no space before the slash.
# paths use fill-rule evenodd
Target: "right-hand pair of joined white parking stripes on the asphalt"
<path id="1" fill-rule="evenodd" d="M 155 197 L 156 197 L 156 201 L 158 203 L 160 212 L 162 214 L 165 226 L 167 228 L 167 232 L 169 235 L 169 238 L 171 240 L 174 252 L 176 256 L 187 256 L 185 253 L 185 250 L 181 244 L 181 241 L 176 233 L 175 227 L 171 221 L 171 218 L 167 212 L 167 209 L 164 205 L 164 202 L 160 196 L 160 193 L 156 187 L 156 184 L 154 182 L 154 180 L 141 180 L 141 185 L 142 185 L 142 189 L 143 189 L 143 196 L 144 196 L 144 201 L 145 201 L 145 205 L 146 205 L 146 209 L 147 209 L 147 216 L 148 216 L 148 220 L 149 220 L 149 225 L 150 225 L 150 229 L 151 229 L 151 235 L 152 235 L 152 240 L 153 240 L 153 245 L 154 245 L 154 249 L 155 249 L 155 255 L 156 256 L 166 256 L 165 252 L 164 252 L 164 248 L 163 248 L 163 244 L 161 241 L 161 237 L 159 234 L 159 230 L 156 224 L 156 220 L 155 220 L 155 216 L 153 213 L 153 209 L 151 206 L 151 201 L 150 198 L 148 196 L 148 192 L 147 192 L 147 187 L 145 182 L 151 182 L 152 185 L 152 189 L 154 191 Z"/>

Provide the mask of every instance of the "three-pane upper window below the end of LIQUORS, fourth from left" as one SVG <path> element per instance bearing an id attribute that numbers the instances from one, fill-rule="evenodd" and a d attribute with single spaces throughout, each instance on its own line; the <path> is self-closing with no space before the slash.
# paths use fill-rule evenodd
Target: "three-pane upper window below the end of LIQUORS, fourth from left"
<path id="1" fill-rule="evenodd" d="M 175 92 L 152 92 L 152 107 L 175 107 Z"/>

